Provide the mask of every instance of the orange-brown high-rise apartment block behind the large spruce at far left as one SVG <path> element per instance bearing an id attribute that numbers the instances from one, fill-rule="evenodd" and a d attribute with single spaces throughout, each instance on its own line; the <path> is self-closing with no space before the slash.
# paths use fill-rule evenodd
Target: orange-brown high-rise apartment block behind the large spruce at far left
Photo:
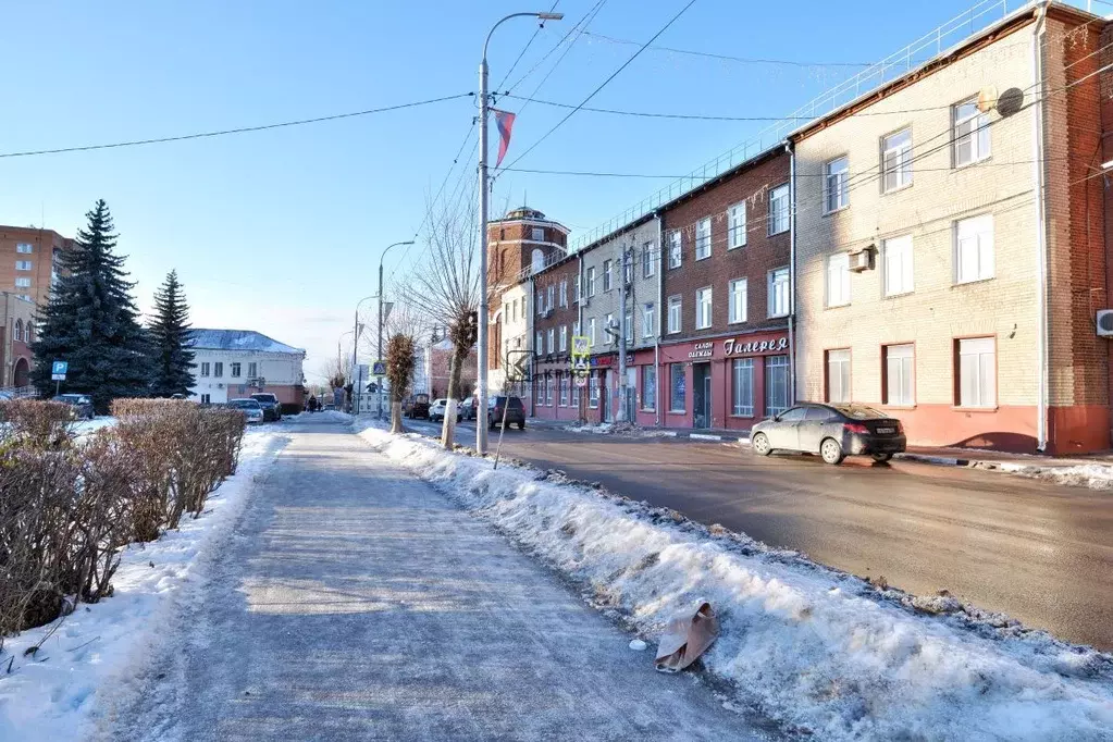
<path id="1" fill-rule="evenodd" d="M 72 246 L 73 240 L 52 229 L 0 226 L 0 291 L 46 305 L 58 257 Z"/>

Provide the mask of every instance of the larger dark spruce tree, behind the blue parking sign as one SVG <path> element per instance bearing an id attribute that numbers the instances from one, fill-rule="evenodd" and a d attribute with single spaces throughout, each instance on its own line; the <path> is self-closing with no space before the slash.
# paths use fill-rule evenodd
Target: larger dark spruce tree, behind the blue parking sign
<path id="1" fill-rule="evenodd" d="M 139 325 L 124 258 L 114 255 L 116 235 L 104 199 L 86 217 L 72 250 L 59 256 L 58 281 L 38 324 L 32 344 L 38 363 L 31 379 L 39 393 L 51 395 L 52 360 L 69 362 L 65 392 L 88 394 L 105 413 L 117 397 L 150 389 L 150 344 Z"/>

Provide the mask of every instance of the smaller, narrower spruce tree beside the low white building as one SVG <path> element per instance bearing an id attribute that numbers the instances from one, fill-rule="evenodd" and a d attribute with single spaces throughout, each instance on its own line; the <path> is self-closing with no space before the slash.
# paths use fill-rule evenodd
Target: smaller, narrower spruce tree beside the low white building
<path id="1" fill-rule="evenodd" d="M 178 271 L 171 270 L 155 293 L 155 320 L 150 326 L 154 380 L 150 393 L 156 397 L 189 394 L 194 385 L 190 367 L 194 353 L 189 349 L 189 307 L 178 283 Z"/>

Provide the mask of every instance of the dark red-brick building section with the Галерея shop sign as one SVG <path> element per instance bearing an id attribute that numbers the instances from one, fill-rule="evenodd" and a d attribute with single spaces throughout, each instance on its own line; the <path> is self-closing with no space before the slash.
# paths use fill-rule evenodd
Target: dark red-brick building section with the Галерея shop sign
<path id="1" fill-rule="evenodd" d="M 791 403 L 789 164 L 775 147 L 660 210 L 663 425 L 749 429 Z"/>

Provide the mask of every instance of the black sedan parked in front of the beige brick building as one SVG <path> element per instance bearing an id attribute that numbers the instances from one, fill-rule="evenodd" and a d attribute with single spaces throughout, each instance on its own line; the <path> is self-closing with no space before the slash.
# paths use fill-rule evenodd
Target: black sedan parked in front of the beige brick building
<path id="1" fill-rule="evenodd" d="M 900 421 L 855 404 L 804 403 L 750 431 L 756 454 L 797 451 L 819 454 L 828 464 L 861 455 L 887 462 L 893 454 L 903 453 L 906 443 Z"/>

